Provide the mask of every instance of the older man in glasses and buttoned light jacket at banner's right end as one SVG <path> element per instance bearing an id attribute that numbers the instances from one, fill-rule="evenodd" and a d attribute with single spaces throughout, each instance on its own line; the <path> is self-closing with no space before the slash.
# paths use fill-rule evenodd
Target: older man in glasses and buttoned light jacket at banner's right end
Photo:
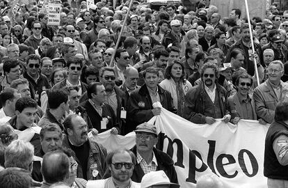
<path id="1" fill-rule="evenodd" d="M 254 90 L 257 116 L 266 123 L 273 122 L 277 102 L 288 99 L 288 84 L 281 81 L 283 74 L 283 63 L 279 60 L 272 61 L 267 68 L 268 79 Z"/>

